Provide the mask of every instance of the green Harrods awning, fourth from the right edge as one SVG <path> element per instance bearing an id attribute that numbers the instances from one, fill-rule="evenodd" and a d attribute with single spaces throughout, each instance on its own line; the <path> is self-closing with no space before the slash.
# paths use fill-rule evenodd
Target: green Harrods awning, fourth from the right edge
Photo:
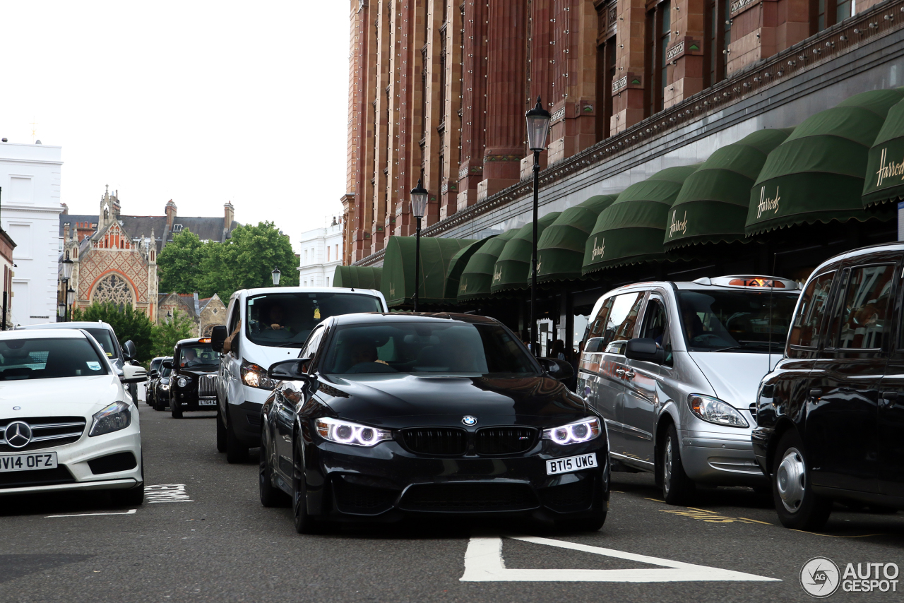
<path id="1" fill-rule="evenodd" d="M 582 274 L 665 259 L 665 220 L 675 197 L 697 165 L 667 167 L 631 184 L 599 213 L 584 246 Z"/>

